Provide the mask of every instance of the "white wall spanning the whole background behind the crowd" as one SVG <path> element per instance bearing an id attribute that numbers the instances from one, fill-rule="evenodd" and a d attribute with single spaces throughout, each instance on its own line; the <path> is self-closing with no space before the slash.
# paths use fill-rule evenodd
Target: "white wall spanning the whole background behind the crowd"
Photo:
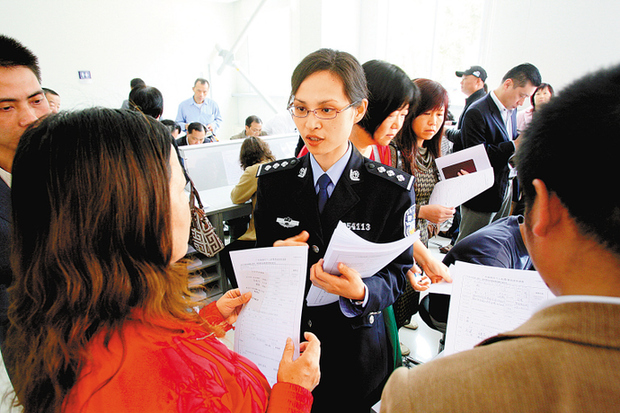
<path id="1" fill-rule="evenodd" d="M 467 50 L 445 44 L 455 25 L 432 31 L 434 4 L 462 13 L 484 2 L 482 42 Z M 142 77 L 164 94 L 174 118 L 196 77 L 211 80 L 226 139 L 245 117 L 273 110 L 234 69 L 217 75 L 215 45 L 230 48 L 262 0 L 0 0 L 0 32 L 16 37 L 41 60 L 44 86 L 64 108 L 119 107 L 129 81 Z M 267 0 L 236 53 L 239 67 L 284 110 L 299 60 L 333 47 L 360 61 L 384 59 L 410 76 L 429 76 L 455 90 L 454 70 L 480 64 L 495 88 L 512 66 L 529 61 L 556 90 L 584 73 L 620 63 L 617 0 Z M 403 8 L 408 7 L 406 13 Z M 453 36 L 454 37 L 454 36 Z M 442 47 L 428 54 L 421 45 Z M 446 65 L 446 53 L 462 67 Z M 439 56 L 439 57 L 438 57 Z M 444 56 L 443 58 L 441 56 Z M 460 59 L 460 60 L 459 60 Z M 446 67 L 450 66 L 450 67 Z M 91 70 L 83 84 L 78 70 Z"/>

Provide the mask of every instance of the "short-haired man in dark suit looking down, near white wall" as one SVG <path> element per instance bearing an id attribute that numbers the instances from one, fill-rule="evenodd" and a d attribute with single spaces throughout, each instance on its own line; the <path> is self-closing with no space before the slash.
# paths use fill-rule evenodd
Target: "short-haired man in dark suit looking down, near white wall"
<path id="1" fill-rule="evenodd" d="M 541 83 L 536 66 L 524 63 L 504 75 L 502 84 L 472 104 L 463 117 L 463 146 L 483 144 L 493 167 L 491 188 L 461 206 L 457 242 L 478 229 L 510 214 L 512 185 L 508 160 L 519 145 L 517 107 L 522 106 Z"/>

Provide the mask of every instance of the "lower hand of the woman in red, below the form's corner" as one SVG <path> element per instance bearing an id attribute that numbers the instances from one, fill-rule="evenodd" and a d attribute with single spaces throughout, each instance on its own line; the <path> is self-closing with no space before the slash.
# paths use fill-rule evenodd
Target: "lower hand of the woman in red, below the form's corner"
<path id="1" fill-rule="evenodd" d="M 278 368 L 278 383 L 293 383 L 312 391 L 321 378 L 319 359 L 321 358 L 321 342 L 312 333 L 304 333 L 306 340 L 299 346 L 301 355 L 293 360 L 295 347 L 292 339 L 286 340 Z"/>

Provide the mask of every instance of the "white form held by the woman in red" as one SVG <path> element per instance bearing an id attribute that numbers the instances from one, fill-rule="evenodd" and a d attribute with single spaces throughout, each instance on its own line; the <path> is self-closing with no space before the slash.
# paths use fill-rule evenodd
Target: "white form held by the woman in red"
<path id="1" fill-rule="evenodd" d="M 235 325 L 235 351 L 252 360 L 273 386 L 288 337 L 299 357 L 307 247 L 231 251 L 239 289 L 252 292 Z"/>

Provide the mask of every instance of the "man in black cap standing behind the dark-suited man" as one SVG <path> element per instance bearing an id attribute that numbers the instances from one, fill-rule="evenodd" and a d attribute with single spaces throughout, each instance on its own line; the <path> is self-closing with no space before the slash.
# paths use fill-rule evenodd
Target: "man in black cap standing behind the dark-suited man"
<path id="1" fill-rule="evenodd" d="M 461 125 L 463 124 L 463 116 L 465 116 L 465 112 L 472 103 L 484 97 L 486 94 L 484 82 L 487 80 L 487 72 L 480 66 L 472 66 L 462 72 L 457 70 L 456 75 L 461 78 L 461 92 L 465 93 L 467 98 L 465 99 L 465 107 L 461 112 L 461 116 L 459 116 L 459 123 L 456 125 L 456 128 L 446 129 L 446 138 L 454 144 L 452 147 L 453 152 L 463 149 L 463 141 L 461 140 Z M 457 208 L 454 218 L 452 219 L 452 226 L 448 229 L 447 233 L 440 234 L 451 238 L 449 244 L 444 245 L 439 249 L 441 253 L 447 253 L 456 243 L 456 239 L 459 236 L 460 222 L 461 210 Z"/>

